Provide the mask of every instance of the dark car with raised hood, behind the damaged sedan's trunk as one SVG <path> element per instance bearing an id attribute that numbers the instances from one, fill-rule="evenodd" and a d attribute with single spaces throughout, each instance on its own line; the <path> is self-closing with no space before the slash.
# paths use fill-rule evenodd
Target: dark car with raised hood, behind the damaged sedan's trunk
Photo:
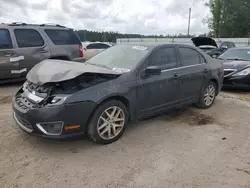
<path id="1" fill-rule="evenodd" d="M 210 37 L 194 37 L 191 39 L 194 45 L 204 52 L 206 52 L 211 57 L 218 57 L 220 54 L 225 52 L 229 48 L 235 47 L 233 42 L 222 42 L 220 46 L 216 43 L 216 41 Z"/>

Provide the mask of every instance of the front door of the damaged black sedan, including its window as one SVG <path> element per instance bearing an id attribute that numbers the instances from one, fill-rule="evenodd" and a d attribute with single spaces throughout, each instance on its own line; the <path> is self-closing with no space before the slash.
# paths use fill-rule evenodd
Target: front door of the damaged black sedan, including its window
<path id="1" fill-rule="evenodd" d="M 137 80 L 137 110 L 139 117 L 148 116 L 178 104 L 179 80 L 176 77 L 178 61 L 174 47 L 161 47 L 155 50 L 143 65 L 159 66 L 160 75 L 148 77 L 139 75 Z"/>

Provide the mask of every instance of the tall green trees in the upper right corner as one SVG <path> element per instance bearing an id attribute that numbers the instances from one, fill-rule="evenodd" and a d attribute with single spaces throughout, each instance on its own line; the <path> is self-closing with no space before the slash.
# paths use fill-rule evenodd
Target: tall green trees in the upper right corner
<path id="1" fill-rule="evenodd" d="M 250 0 L 209 0 L 206 19 L 213 37 L 250 37 Z"/>

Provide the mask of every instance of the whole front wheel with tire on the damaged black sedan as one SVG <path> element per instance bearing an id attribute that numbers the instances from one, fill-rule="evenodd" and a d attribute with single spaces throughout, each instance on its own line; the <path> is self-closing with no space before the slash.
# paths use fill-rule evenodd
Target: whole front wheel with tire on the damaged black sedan
<path id="1" fill-rule="evenodd" d="M 128 124 L 127 107 L 117 100 L 101 104 L 90 120 L 88 136 L 97 144 L 110 144 L 118 140 Z"/>

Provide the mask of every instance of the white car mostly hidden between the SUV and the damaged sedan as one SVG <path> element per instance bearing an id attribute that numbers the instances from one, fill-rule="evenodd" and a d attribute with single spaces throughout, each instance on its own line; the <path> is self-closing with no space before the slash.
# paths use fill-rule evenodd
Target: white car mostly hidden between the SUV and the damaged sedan
<path id="1" fill-rule="evenodd" d="M 111 47 L 111 44 L 102 43 L 102 42 L 94 42 L 94 43 L 88 44 L 84 48 L 85 60 L 90 59 L 91 57 L 102 52 L 103 50 L 106 50 L 109 47 Z"/>

